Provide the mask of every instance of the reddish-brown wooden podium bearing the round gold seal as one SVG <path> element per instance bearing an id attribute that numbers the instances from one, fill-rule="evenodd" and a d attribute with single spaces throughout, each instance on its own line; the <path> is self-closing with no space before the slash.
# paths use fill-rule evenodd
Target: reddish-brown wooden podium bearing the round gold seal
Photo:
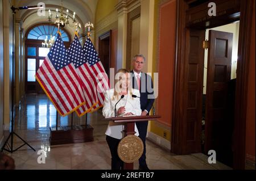
<path id="1" fill-rule="evenodd" d="M 138 121 L 153 121 L 161 116 L 154 115 L 154 116 L 118 116 L 118 117 L 110 117 L 104 119 L 106 121 L 114 121 L 114 123 L 125 123 L 125 136 L 134 135 L 134 123 Z M 124 165 L 125 170 L 133 170 L 133 163 L 125 163 Z"/>

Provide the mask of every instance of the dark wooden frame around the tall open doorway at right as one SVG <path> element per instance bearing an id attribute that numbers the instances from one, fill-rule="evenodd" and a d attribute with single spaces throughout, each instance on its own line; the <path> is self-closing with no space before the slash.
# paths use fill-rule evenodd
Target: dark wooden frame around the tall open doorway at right
<path id="1" fill-rule="evenodd" d="M 218 0 L 214 1 L 217 2 Z M 189 27 L 186 27 L 187 10 L 194 0 L 177 1 L 177 24 L 176 24 L 176 54 L 175 54 L 175 77 L 174 77 L 174 114 L 172 117 L 171 151 L 175 154 L 187 154 L 185 143 L 185 81 L 186 37 L 189 35 Z M 208 1 L 212 2 L 212 1 Z M 236 1 L 238 2 L 238 1 Z M 199 5 L 200 6 L 200 5 Z M 234 123 L 234 169 L 245 169 L 245 128 L 246 128 L 246 105 L 247 105 L 247 77 L 249 73 L 250 56 L 250 29 L 253 14 L 253 0 L 241 1 L 240 4 L 240 32 L 238 41 L 237 61 L 237 85 L 236 85 L 236 109 Z M 216 18 L 209 19 L 216 20 Z M 203 88 L 202 88 L 203 89 Z"/>

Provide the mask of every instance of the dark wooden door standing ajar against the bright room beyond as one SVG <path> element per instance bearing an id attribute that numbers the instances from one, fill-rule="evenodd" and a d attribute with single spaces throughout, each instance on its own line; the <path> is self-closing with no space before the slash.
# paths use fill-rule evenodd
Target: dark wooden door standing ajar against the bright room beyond
<path id="1" fill-rule="evenodd" d="M 233 33 L 209 31 L 205 151 L 215 150 L 218 161 L 225 159 L 229 117 L 226 116 L 228 82 L 232 64 Z"/>

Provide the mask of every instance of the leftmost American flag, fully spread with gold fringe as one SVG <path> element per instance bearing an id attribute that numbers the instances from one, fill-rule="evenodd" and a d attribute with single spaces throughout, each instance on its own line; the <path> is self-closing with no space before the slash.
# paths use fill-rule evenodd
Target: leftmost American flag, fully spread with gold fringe
<path id="1" fill-rule="evenodd" d="M 35 77 L 61 116 L 85 104 L 81 79 L 59 33 Z"/>

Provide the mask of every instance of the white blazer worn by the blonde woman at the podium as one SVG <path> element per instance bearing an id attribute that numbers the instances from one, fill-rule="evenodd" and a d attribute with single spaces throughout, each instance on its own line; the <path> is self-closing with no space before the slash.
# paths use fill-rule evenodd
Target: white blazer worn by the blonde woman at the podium
<path id="1" fill-rule="evenodd" d="M 133 94 L 140 96 L 139 90 L 133 89 Z M 118 100 L 121 98 L 119 96 L 118 98 L 113 99 L 114 95 L 114 89 L 110 89 L 105 92 L 105 101 L 104 101 L 104 107 L 102 110 L 102 114 L 105 118 L 114 117 L 115 116 L 115 103 L 118 102 Z M 123 99 L 119 101 L 117 104 L 117 110 L 119 107 L 125 106 L 125 113 L 131 112 L 133 115 L 141 116 L 141 102 L 139 98 L 133 98 L 130 93 L 125 95 Z M 138 129 L 135 124 L 135 135 L 139 136 Z M 108 129 L 106 130 L 106 135 L 117 138 L 121 140 L 123 138 L 122 131 L 124 130 L 124 124 L 123 123 L 114 123 L 113 121 L 109 121 Z"/>

